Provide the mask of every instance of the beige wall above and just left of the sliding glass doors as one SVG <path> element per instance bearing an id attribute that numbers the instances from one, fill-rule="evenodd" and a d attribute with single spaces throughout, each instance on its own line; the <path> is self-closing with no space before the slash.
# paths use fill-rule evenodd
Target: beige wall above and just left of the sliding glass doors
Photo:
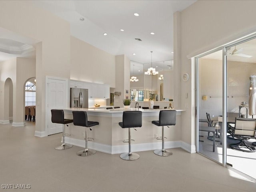
<path id="1" fill-rule="evenodd" d="M 174 27 L 180 28 L 181 33 L 174 33 L 174 39 L 178 39 L 174 46 L 174 62 L 181 65 L 179 76 L 184 72 L 192 76 L 188 82 L 180 82 L 181 104 L 189 104 L 182 113 L 182 141 L 195 144 L 194 61 L 187 56 L 196 56 L 256 31 L 255 7 L 256 1 L 197 1 L 183 10 L 180 18 L 175 18 Z M 184 97 L 186 92 L 188 99 Z"/>

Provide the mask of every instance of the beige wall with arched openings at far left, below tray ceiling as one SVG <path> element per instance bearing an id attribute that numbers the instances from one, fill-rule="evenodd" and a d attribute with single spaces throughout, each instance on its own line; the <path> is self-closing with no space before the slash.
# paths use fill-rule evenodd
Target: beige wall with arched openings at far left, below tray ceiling
<path id="1" fill-rule="evenodd" d="M 25 115 L 25 98 L 24 98 L 24 85 L 26 80 L 36 76 L 36 60 L 28 58 L 14 58 L 11 60 L 0 62 L 0 89 L 4 93 L 4 83 L 7 78 L 12 80 L 13 90 L 10 90 L 9 100 L 11 101 L 13 97 L 13 103 L 7 104 L 6 96 L 4 94 L 0 95 L 0 102 L 2 106 L 9 108 L 8 112 L 6 110 L 0 111 L 0 120 L 9 120 L 13 115 L 13 125 L 24 125 L 24 115 Z M 7 93 L 6 93 L 7 94 Z"/>

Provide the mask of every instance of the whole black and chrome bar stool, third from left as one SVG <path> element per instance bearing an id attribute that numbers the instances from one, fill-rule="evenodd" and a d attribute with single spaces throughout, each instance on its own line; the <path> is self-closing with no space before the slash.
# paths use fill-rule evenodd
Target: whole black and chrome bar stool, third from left
<path id="1" fill-rule="evenodd" d="M 141 111 L 124 111 L 123 112 L 123 121 L 118 123 L 122 128 L 129 128 L 129 152 L 122 153 L 120 155 L 121 159 L 124 160 L 136 160 L 140 158 L 140 155 L 137 153 L 131 152 L 131 128 L 141 127 L 142 126 L 142 112 Z"/>

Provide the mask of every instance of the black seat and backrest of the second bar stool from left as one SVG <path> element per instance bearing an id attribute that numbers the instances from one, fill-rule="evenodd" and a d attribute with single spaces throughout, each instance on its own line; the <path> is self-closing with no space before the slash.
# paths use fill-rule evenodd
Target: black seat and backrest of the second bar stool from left
<path id="1" fill-rule="evenodd" d="M 74 125 L 92 127 L 99 124 L 99 122 L 96 121 L 88 121 L 86 111 L 72 111 L 72 113 Z"/>

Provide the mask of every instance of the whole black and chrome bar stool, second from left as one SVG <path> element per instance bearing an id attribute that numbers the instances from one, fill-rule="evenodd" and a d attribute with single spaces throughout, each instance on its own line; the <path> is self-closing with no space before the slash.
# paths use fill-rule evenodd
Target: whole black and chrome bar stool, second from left
<path id="1" fill-rule="evenodd" d="M 78 151 L 76 154 L 78 156 L 90 156 L 96 153 L 93 149 L 88 149 L 88 140 L 92 141 L 93 138 L 88 138 L 88 127 L 92 127 L 95 125 L 98 125 L 99 122 L 96 121 L 88 121 L 87 113 L 85 111 L 73 111 L 73 123 L 77 126 L 83 126 L 85 127 L 85 149 Z M 90 128 L 90 130 L 92 130 Z"/>

